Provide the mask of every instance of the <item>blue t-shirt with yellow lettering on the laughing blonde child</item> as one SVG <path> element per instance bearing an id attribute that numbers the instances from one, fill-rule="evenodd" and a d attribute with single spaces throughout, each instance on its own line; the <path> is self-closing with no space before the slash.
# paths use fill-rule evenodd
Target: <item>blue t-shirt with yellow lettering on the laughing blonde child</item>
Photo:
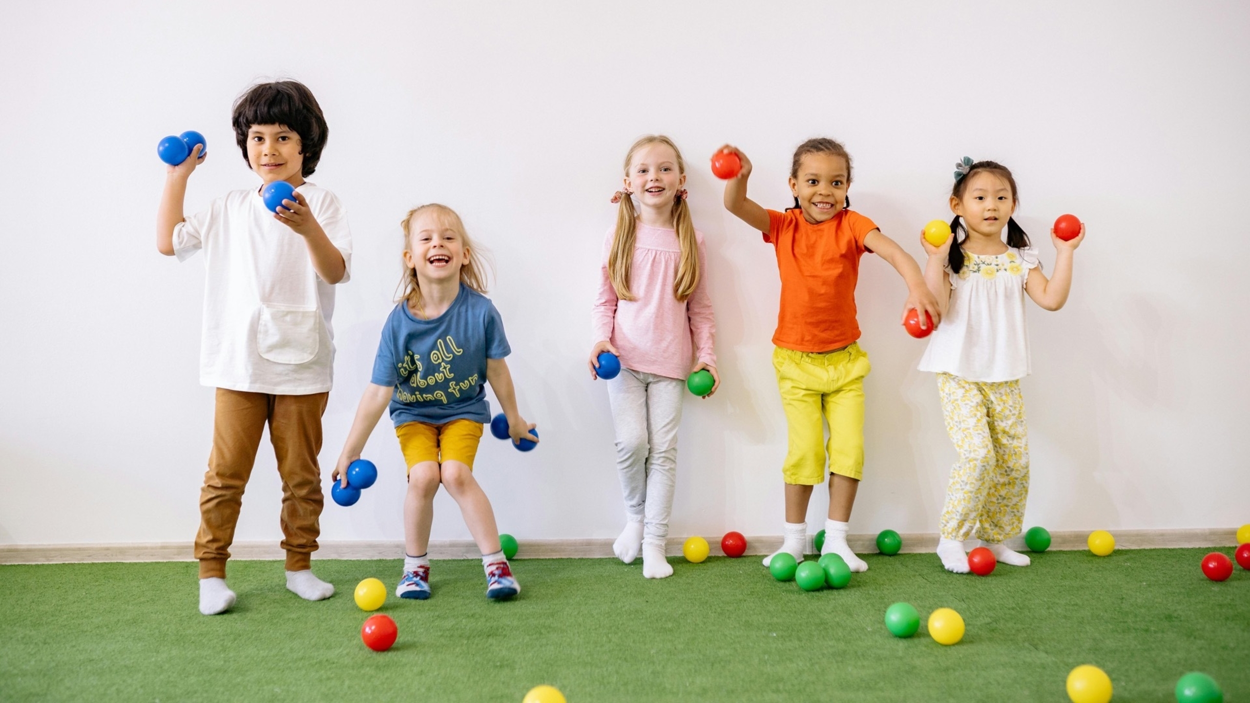
<path id="1" fill-rule="evenodd" d="M 372 383 L 395 389 L 390 403 L 395 427 L 461 418 L 485 424 L 490 422 L 486 359 L 510 353 L 499 310 L 461 285 L 448 311 L 432 320 L 414 316 L 408 301 L 395 305 L 378 344 Z"/>

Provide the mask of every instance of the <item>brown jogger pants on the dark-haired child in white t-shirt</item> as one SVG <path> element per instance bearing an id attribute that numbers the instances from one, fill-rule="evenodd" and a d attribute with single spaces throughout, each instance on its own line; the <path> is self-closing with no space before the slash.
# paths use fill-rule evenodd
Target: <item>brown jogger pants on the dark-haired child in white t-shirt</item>
<path id="1" fill-rule="evenodd" d="M 225 578 L 230 543 L 242 492 L 269 422 L 269 435 L 282 477 L 282 549 L 286 570 L 299 572 L 311 564 L 321 533 L 321 414 L 329 393 L 270 395 L 218 389 L 212 417 L 212 453 L 200 489 L 200 532 L 195 535 L 195 558 L 200 578 Z"/>

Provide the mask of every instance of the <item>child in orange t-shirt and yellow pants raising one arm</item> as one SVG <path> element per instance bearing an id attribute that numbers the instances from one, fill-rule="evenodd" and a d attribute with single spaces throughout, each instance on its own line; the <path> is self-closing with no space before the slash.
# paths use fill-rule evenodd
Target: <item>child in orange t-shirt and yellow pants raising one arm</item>
<path id="1" fill-rule="evenodd" d="M 776 251 L 781 274 L 781 306 L 772 335 L 772 367 L 781 392 L 789 450 L 785 479 L 785 542 L 778 552 L 802 560 L 808 540 L 808 503 L 812 487 L 825 482 L 828 457 L 829 518 L 822 554 L 834 553 L 852 572 L 868 564 L 846 545 L 848 520 L 864 470 L 864 377 L 871 368 L 856 340 L 855 284 L 859 260 L 872 251 L 890 263 L 908 284 L 908 301 L 899 324 L 911 309 L 940 319 L 938 300 L 925 285 L 920 266 L 872 220 L 850 210 L 851 158 L 832 139 L 809 139 L 799 145 L 790 166 L 794 208 L 765 210 L 746 198 L 751 161 L 735 146 L 742 170 L 725 184 L 725 208 L 764 233 Z M 922 319 L 922 315 L 921 315 Z M 825 443 L 824 423 L 829 423 Z M 764 559 L 771 563 L 774 552 Z"/>

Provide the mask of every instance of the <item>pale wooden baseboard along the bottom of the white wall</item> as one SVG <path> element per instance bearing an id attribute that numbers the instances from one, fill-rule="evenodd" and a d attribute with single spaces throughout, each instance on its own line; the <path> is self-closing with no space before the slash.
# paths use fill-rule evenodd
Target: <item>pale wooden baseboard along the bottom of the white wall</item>
<path id="1" fill-rule="evenodd" d="M 1118 549 L 1161 549 L 1176 547 L 1236 547 L 1236 530 L 1215 529 L 1124 529 L 1115 530 Z M 1052 532 L 1051 549 L 1085 549 L 1088 532 Z M 724 555 L 720 538 L 709 537 L 711 554 Z M 814 553 L 812 535 L 808 535 L 808 552 Z M 669 555 L 681 554 L 681 538 L 669 538 Z M 748 537 L 748 554 L 769 554 L 781 547 L 781 537 Z M 876 535 L 852 534 L 851 549 L 876 552 Z M 1014 538 L 1008 545 L 1024 549 L 1024 540 Z M 902 552 L 932 552 L 938 535 L 914 533 L 902 535 Z M 238 542 L 230 548 L 232 559 L 281 559 L 285 553 L 276 542 Z M 322 542 L 319 559 L 399 559 L 404 543 L 382 540 Z M 478 559 L 478 545 L 470 539 L 444 539 L 430 543 L 435 559 Z M 612 539 L 522 539 L 519 559 L 570 559 L 612 557 Z M 124 543 L 124 544 L 8 544 L 0 545 L 0 564 L 68 564 L 90 562 L 191 562 L 190 542 Z"/>

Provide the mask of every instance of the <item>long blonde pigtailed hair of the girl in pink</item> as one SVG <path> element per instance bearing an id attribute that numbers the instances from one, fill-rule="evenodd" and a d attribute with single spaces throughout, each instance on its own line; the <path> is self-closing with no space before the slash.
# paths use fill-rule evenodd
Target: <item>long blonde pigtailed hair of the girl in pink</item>
<path id="1" fill-rule="evenodd" d="M 649 134 L 635 141 L 629 148 L 629 153 L 625 154 L 625 178 L 629 178 L 629 165 L 634 159 L 634 153 L 648 144 L 664 144 L 671 148 L 672 153 L 678 155 L 678 173 L 686 173 L 686 164 L 681 159 L 678 145 L 662 134 Z M 690 206 L 680 195 L 672 200 L 672 226 L 678 230 L 678 244 L 681 245 L 681 263 L 678 266 L 678 276 L 672 281 L 672 295 L 678 300 L 685 301 L 699 285 L 699 244 L 695 241 L 695 225 L 690 219 Z M 634 199 L 621 194 L 621 206 L 616 211 L 616 234 L 612 236 L 612 249 L 608 255 L 608 278 L 616 290 L 616 298 L 621 300 L 634 300 L 634 294 L 629 290 L 629 276 L 630 264 L 634 261 L 636 229 Z"/>

